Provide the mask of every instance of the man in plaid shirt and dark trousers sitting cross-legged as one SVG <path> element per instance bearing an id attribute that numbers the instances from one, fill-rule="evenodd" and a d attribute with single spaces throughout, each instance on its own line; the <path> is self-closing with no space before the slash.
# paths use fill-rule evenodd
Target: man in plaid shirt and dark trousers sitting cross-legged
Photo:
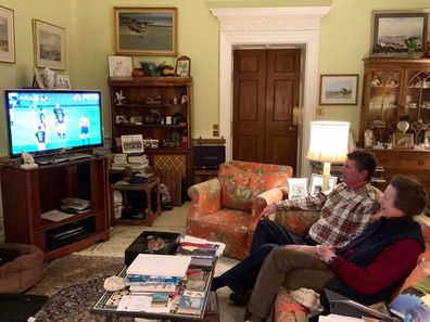
<path id="1" fill-rule="evenodd" d="M 375 155 L 366 150 L 355 150 L 347 154 L 341 168 L 342 182 L 327 195 L 319 192 L 315 196 L 282 201 L 267 206 L 262 212 L 250 255 L 222 275 L 213 279 L 212 291 L 228 286 L 233 293 L 230 299 L 245 304 L 253 288 L 264 259 L 275 247 L 281 245 L 328 244 L 341 248 L 359 235 L 377 212 L 378 191 L 370 185 L 376 169 Z M 320 218 L 311 227 L 303 239 L 288 231 L 267 216 L 276 210 L 303 209 L 320 210 Z"/>

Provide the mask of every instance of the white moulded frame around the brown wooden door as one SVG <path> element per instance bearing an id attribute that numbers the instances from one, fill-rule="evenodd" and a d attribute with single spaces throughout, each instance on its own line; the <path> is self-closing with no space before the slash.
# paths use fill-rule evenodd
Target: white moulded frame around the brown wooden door
<path id="1" fill-rule="evenodd" d="M 301 119 L 298 129 L 298 173 L 309 177 L 305 156 L 311 121 L 318 98 L 320 20 L 331 7 L 211 9 L 219 22 L 219 133 L 226 139 L 226 159 L 232 155 L 232 51 L 249 46 L 293 46 L 302 49 Z"/>

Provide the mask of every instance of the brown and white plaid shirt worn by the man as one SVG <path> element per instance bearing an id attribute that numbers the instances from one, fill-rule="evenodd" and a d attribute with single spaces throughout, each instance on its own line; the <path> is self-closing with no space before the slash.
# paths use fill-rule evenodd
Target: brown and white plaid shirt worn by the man
<path id="1" fill-rule="evenodd" d="M 292 201 L 282 201 L 277 209 L 320 210 L 321 216 L 309 229 L 315 242 L 343 247 L 359 235 L 379 209 L 378 192 L 370 183 L 351 189 L 339 183 L 329 195 L 321 192 Z"/>

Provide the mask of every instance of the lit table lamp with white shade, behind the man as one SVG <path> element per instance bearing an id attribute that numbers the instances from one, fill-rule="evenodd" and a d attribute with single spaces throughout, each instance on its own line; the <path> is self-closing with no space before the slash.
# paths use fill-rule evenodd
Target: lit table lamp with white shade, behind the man
<path id="1" fill-rule="evenodd" d="M 344 163 L 347 154 L 347 121 L 312 121 L 311 142 L 306 158 L 324 163 L 322 191 L 330 190 L 331 163 Z"/>

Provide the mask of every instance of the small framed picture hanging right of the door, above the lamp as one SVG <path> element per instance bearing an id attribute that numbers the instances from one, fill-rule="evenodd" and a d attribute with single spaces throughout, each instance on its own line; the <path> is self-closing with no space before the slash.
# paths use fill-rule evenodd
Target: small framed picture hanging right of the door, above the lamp
<path id="1" fill-rule="evenodd" d="M 320 105 L 357 105 L 358 74 L 321 74 Z"/>

